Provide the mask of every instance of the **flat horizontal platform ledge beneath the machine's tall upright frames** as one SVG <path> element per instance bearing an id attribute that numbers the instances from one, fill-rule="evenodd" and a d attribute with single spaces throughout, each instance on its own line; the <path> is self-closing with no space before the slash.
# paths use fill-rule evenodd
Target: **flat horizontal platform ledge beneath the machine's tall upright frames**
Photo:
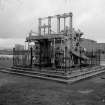
<path id="1" fill-rule="evenodd" d="M 65 38 L 63 34 L 41 35 L 41 36 L 29 36 L 26 37 L 26 41 L 35 41 L 41 39 L 53 39 L 53 38 Z"/>

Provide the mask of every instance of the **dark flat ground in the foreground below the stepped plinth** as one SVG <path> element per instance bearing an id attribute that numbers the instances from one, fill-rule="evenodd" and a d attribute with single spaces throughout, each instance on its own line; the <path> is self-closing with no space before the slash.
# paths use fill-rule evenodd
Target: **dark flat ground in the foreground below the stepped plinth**
<path id="1" fill-rule="evenodd" d="M 105 105 L 101 77 L 70 85 L 0 72 L 0 105 Z"/>

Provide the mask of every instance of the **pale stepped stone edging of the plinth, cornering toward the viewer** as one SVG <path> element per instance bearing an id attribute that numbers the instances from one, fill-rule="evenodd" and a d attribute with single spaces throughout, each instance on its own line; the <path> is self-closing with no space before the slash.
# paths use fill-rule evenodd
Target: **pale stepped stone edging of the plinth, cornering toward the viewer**
<path id="1" fill-rule="evenodd" d="M 54 74 L 51 72 L 37 72 L 37 71 L 25 71 L 25 70 L 16 70 L 9 68 L 8 70 L 3 69 L 1 70 L 2 72 L 7 72 L 7 73 L 13 73 L 13 74 L 19 74 L 19 75 L 25 75 L 25 76 L 30 76 L 30 77 L 36 77 L 36 78 L 42 78 L 42 79 L 47 79 L 47 80 L 53 80 L 57 82 L 64 82 L 64 83 L 74 83 L 79 80 L 83 80 L 89 77 L 92 77 L 94 75 L 100 74 L 105 72 L 105 67 L 104 66 L 96 66 L 92 67 L 91 70 L 88 69 L 82 69 L 73 71 L 72 73 L 69 73 L 67 75 L 60 75 L 60 74 Z"/>

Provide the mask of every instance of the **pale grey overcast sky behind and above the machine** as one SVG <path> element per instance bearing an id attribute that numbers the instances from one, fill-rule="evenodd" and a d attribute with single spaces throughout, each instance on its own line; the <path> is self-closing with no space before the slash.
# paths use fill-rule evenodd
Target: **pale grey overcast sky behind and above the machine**
<path id="1" fill-rule="evenodd" d="M 70 11 L 85 38 L 105 42 L 105 0 L 0 0 L 0 47 L 24 44 L 39 17 Z"/>

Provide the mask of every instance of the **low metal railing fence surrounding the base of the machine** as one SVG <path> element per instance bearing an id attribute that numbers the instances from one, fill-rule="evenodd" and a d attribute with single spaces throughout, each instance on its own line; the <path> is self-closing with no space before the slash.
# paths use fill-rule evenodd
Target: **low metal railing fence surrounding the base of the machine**
<path id="1" fill-rule="evenodd" d="M 36 55 L 37 53 L 37 55 Z M 16 51 L 13 49 L 13 65 L 14 66 L 24 66 L 24 67 L 55 67 L 59 70 L 71 69 L 74 67 L 83 67 L 83 66 L 94 66 L 100 65 L 100 52 L 86 52 L 85 55 L 89 58 L 84 61 L 82 58 L 75 58 L 75 62 L 78 60 L 79 64 L 74 63 L 72 57 L 63 57 L 61 55 L 55 56 L 55 61 L 51 59 L 51 56 L 43 56 L 39 51 L 36 52 L 32 48 L 30 50 L 21 50 Z M 74 58 L 73 58 L 74 59 Z M 74 64 L 73 64 L 74 63 Z"/>

